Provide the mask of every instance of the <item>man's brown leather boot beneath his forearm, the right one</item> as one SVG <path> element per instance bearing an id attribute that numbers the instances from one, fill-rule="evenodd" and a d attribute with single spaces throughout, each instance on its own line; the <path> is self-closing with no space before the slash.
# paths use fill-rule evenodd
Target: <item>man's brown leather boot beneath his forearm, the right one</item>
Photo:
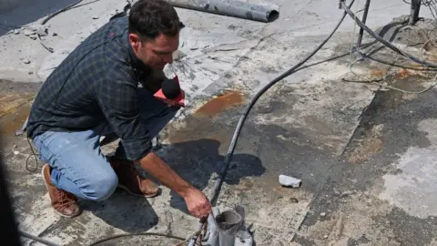
<path id="1" fill-rule="evenodd" d="M 158 185 L 150 179 L 143 179 L 133 161 L 109 157 L 109 163 L 116 171 L 118 188 L 137 197 L 153 198 L 159 195 Z"/>

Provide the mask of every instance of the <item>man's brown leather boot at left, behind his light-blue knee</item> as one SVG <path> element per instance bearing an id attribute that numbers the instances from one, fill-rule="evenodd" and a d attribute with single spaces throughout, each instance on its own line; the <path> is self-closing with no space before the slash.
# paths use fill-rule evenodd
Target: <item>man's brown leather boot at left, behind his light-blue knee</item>
<path id="1" fill-rule="evenodd" d="M 50 172 L 51 168 L 48 164 L 43 166 L 42 174 L 44 183 L 46 184 L 46 188 L 48 190 L 48 195 L 50 196 L 50 200 L 52 201 L 52 207 L 59 213 L 61 216 L 73 218 L 79 215 L 82 210 L 80 210 L 79 205 L 77 204 L 76 197 L 66 192 L 65 190 L 58 190 L 50 180 Z"/>

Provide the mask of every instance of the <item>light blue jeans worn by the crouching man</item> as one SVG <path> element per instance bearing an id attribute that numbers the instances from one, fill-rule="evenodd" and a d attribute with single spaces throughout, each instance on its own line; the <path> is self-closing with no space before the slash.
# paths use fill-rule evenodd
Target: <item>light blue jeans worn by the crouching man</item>
<path id="1" fill-rule="evenodd" d="M 153 138 L 175 117 L 178 108 L 169 108 L 144 88 L 138 94 L 141 118 Z M 100 151 L 99 139 L 111 133 L 105 122 L 86 131 L 46 131 L 33 140 L 40 159 L 52 167 L 51 181 L 57 189 L 85 200 L 107 200 L 116 190 L 118 179 Z M 119 146 L 117 153 L 123 152 Z"/>

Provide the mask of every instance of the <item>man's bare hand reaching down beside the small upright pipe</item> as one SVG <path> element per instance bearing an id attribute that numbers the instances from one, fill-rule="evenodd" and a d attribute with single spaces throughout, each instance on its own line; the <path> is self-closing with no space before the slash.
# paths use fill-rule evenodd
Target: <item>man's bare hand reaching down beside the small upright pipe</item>
<path id="1" fill-rule="evenodd" d="M 208 198 L 197 189 L 191 189 L 184 197 L 189 213 L 201 219 L 208 217 L 211 212 L 211 204 Z"/>

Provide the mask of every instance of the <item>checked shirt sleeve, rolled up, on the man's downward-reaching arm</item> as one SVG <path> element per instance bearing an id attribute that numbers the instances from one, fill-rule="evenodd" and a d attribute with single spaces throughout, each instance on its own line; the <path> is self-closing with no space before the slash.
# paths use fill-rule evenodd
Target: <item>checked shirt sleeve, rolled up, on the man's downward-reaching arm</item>
<path id="1" fill-rule="evenodd" d="M 121 139 L 127 159 L 138 160 L 152 149 L 151 138 L 139 115 L 137 83 L 122 71 L 109 72 L 106 81 L 98 84 L 96 97 L 107 122 Z"/>

